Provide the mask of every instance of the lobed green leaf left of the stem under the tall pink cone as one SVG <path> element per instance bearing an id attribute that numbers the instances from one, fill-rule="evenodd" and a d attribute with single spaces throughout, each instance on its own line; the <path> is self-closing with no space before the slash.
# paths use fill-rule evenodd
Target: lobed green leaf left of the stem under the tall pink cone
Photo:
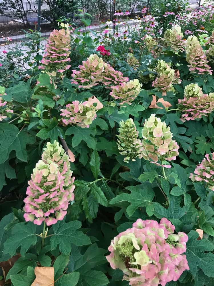
<path id="1" fill-rule="evenodd" d="M 4 254 L 13 256 L 21 246 L 21 256 L 25 257 L 28 249 L 37 243 L 36 225 L 34 223 L 17 223 L 12 229 L 12 235 L 4 243 Z"/>

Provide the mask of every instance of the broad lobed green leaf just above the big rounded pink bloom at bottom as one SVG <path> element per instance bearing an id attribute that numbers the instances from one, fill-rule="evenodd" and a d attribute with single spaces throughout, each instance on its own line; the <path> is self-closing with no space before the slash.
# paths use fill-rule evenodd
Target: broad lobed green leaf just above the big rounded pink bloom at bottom
<path id="1" fill-rule="evenodd" d="M 126 189 L 130 190 L 131 194 L 119 194 L 115 198 L 112 198 L 110 204 L 117 204 L 124 201 L 130 202 L 131 204 L 126 209 L 129 217 L 133 215 L 138 207 L 145 206 L 146 212 L 151 216 L 153 212 L 152 200 L 155 196 L 153 190 L 148 190 L 148 188 L 140 186 L 129 186 Z"/>

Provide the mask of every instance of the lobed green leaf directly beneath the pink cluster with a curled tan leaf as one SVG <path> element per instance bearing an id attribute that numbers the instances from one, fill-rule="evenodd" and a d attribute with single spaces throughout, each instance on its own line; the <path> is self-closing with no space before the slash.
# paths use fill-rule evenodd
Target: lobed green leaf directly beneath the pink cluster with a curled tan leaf
<path id="1" fill-rule="evenodd" d="M 72 126 L 68 128 L 65 132 L 66 136 L 74 134 L 72 138 L 72 147 L 76 147 L 83 140 L 86 142 L 89 148 L 95 149 L 96 142 L 94 140 L 94 136 L 96 134 L 96 128 L 81 128 Z M 92 135 L 92 136 L 91 136 Z"/>

